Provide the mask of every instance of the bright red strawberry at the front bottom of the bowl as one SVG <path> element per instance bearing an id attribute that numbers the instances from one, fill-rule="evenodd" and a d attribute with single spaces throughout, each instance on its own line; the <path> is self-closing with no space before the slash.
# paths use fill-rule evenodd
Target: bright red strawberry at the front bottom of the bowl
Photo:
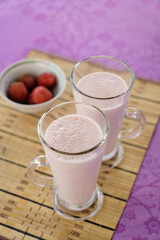
<path id="1" fill-rule="evenodd" d="M 43 103 L 50 100 L 52 97 L 52 92 L 46 87 L 37 86 L 31 92 L 28 102 L 32 104 Z"/>

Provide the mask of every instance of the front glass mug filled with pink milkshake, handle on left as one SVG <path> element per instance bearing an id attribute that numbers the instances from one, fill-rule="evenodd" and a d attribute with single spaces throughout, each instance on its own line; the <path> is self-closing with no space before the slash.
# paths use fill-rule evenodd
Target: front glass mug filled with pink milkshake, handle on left
<path id="1" fill-rule="evenodd" d="M 77 114 L 81 108 L 96 112 L 100 121 Z M 81 102 L 58 104 L 40 118 L 37 130 L 45 155 L 30 161 L 27 176 L 54 189 L 52 204 L 60 216 L 81 221 L 100 210 L 103 193 L 96 183 L 109 129 L 100 109 Z M 39 174 L 36 169 L 41 166 L 50 167 L 53 177 Z"/>

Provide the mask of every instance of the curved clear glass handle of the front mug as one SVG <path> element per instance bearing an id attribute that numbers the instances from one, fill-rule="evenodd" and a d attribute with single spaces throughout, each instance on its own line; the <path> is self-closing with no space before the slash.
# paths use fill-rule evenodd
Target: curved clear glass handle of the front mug
<path id="1" fill-rule="evenodd" d="M 39 167 L 47 167 L 46 156 L 38 156 L 32 159 L 27 167 L 27 176 L 35 184 L 41 187 L 53 187 L 53 177 L 42 176 L 36 172 Z"/>

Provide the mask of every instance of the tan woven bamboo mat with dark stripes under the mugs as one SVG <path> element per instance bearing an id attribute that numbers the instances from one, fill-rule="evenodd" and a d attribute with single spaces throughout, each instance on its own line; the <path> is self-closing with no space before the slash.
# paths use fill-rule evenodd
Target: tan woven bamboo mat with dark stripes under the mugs
<path id="1" fill-rule="evenodd" d="M 55 104 L 73 99 L 69 75 L 74 62 L 34 50 L 27 57 L 53 61 L 66 73 L 66 90 Z M 98 184 L 104 193 L 102 209 L 94 217 L 77 223 L 54 212 L 52 189 L 38 187 L 26 177 L 30 159 L 44 153 L 37 136 L 42 114 L 20 113 L 0 98 L 0 235 L 10 240 L 110 240 L 158 121 L 159 103 L 160 85 L 136 79 L 129 106 L 145 113 L 145 131 L 137 139 L 123 141 L 122 163 L 99 175 Z M 124 120 L 123 128 L 134 124 L 132 119 Z"/>

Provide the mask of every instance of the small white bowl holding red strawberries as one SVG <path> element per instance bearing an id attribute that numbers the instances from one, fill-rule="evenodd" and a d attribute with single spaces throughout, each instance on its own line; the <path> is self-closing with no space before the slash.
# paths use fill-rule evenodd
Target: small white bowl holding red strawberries
<path id="1" fill-rule="evenodd" d="M 51 108 L 63 93 L 66 76 L 56 64 L 42 60 L 22 60 L 0 74 L 0 94 L 24 113 L 39 113 Z"/>

